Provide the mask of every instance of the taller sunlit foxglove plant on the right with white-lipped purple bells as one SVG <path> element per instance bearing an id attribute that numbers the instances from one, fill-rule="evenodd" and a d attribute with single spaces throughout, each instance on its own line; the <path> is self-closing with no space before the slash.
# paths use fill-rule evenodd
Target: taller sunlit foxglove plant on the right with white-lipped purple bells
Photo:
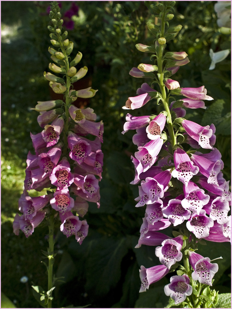
<path id="1" fill-rule="evenodd" d="M 230 241 L 230 192 L 221 170 L 223 162 L 215 144 L 215 126 L 201 126 L 184 119 L 184 108 L 203 108 L 204 100 L 213 100 L 204 86 L 183 88 L 170 77 L 189 62 L 185 52 L 164 53 L 166 42 L 176 37 L 182 26 L 169 27 L 175 1 L 151 4 L 160 27 L 148 22 L 148 30 L 155 36 L 152 46 L 136 44 L 141 52 L 152 53 L 154 64 L 139 64 L 130 75 L 151 78 L 151 84 L 143 83 L 137 96 L 129 97 L 123 109 L 143 108 L 154 99 L 159 106 L 155 115 L 126 115 L 123 127 L 136 130 L 133 143 L 138 146 L 135 157 L 135 179 L 139 184 L 136 207 L 146 205 L 145 217 L 140 229 L 139 243 L 158 246 L 154 253 L 161 265 L 146 269 L 141 266 L 140 292 L 160 280 L 169 271 L 177 270 L 164 293 L 170 296 L 175 307 L 214 307 L 218 292 L 210 290 L 218 265 L 209 257 L 196 253 L 202 239 L 214 242 Z M 154 89 L 158 84 L 159 91 Z M 184 98 L 175 99 L 173 95 Z M 173 101 L 174 100 L 174 101 Z M 131 111 L 130 111 L 131 112 Z M 192 147 L 192 148 L 191 148 Z M 194 149 L 203 148 L 205 151 Z M 173 227 L 171 238 L 161 230 Z M 171 306 L 173 303 L 171 304 Z"/>

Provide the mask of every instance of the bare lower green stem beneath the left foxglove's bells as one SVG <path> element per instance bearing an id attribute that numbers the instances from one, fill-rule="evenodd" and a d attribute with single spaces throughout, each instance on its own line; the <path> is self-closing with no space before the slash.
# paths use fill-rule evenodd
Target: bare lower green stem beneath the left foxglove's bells
<path id="1" fill-rule="evenodd" d="M 48 291 L 52 289 L 53 282 L 52 282 L 52 269 L 54 264 L 54 213 L 51 211 L 49 217 L 49 249 L 48 249 Z M 50 297 L 52 296 L 52 292 Z M 52 300 L 48 299 L 48 308 L 52 308 Z"/>

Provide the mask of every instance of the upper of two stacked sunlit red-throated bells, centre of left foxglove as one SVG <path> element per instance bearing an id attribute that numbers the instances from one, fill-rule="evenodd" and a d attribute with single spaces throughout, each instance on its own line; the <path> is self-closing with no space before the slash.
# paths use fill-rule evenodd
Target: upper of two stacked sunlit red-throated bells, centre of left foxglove
<path id="1" fill-rule="evenodd" d="M 59 190 L 68 188 L 73 183 L 74 176 L 70 172 L 70 165 L 66 157 L 63 157 L 60 163 L 53 168 L 49 178 L 51 183 L 58 187 Z"/>

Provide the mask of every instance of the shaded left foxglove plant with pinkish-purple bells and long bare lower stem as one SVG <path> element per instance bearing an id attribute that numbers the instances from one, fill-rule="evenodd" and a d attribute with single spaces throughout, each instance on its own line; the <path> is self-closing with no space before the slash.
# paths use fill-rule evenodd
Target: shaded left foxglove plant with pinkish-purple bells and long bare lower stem
<path id="1" fill-rule="evenodd" d="M 19 211 L 13 222 L 16 235 L 22 230 L 26 237 L 44 218 L 49 228 L 49 248 L 43 251 L 48 258 L 48 290 L 40 286 L 32 286 L 33 294 L 43 307 L 52 307 L 52 290 L 57 278 L 53 278 L 54 264 L 54 228 L 57 226 L 67 237 L 74 235 L 81 244 L 88 234 L 89 225 L 80 220 L 88 211 L 88 202 L 97 203 L 100 207 L 99 181 L 102 176 L 103 153 L 101 150 L 103 123 L 95 122 L 96 114 L 92 108 L 80 109 L 73 102 L 80 98 L 91 98 L 97 90 L 73 90 L 73 83 L 84 77 L 87 67 L 78 71 L 76 65 L 81 61 L 78 52 L 70 61 L 73 42 L 67 39 L 68 32 L 62 33 L 63 19 L 56 1 L 52 2 L 49 14 L 52 25 L 49 47 L 52 61 L 49 69 L 62 74 L 62 77 L 44 72 L 49 86 L 55 93 L 64 94 L 63 100 L 41 102 L 35 106 L 40 113 L 37 120 L 42 132 L 31 134 L 35 154 L 27 155 L 26 178 L 24 191 L 19 199 Z M 89 135 L 93 135 L 90 140 Z M 29 191 L 41 191 L 49 188 L 46 195 L 30 197 Z"/>

